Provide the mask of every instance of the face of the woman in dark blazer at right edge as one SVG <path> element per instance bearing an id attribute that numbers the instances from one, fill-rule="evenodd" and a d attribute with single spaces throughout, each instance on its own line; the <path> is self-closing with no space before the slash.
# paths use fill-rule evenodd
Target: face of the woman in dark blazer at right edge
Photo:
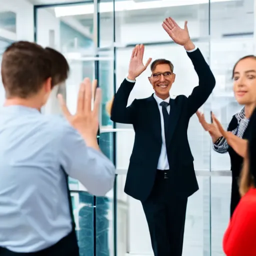
<path id="1" fill-rule="evenodd" d="M 233 73 L 234 96 L 239 104 L 256 103 L 256 58 L 240 60 Z"/>

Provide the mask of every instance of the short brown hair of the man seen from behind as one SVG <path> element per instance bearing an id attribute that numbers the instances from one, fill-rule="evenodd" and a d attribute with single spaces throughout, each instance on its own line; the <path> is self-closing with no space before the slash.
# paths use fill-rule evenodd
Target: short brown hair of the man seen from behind
<path id="1" fill-rule="evenodd" d="M 2 55 L 1 76 L 7 98 L 27 98 L 49 77 L 54 86 L 66 79 L 68 70 L 61 53 L 33 42 L 14 42 Z"/>

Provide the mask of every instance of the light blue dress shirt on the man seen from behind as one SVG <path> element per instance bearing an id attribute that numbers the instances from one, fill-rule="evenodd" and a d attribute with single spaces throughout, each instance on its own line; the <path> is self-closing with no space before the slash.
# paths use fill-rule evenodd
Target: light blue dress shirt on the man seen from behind
<path id="1" fill-rule="evenodd" d="M 113 186 L 115 168 L 62 117 L 20 105 L 0 107 L 0 246 L 49 247 L 71 231 L 65 175 L 94 195 Z"/>

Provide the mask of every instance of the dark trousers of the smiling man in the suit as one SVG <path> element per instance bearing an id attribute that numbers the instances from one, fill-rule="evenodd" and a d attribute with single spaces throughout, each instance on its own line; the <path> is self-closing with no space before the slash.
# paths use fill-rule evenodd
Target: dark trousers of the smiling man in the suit
<path id="1" fill-rule="evenodd" d="M 151 194 L 142 202 L 154 256 L 181 256 L 187 198 L 171 188 L 169 171 L 157 170 Z"/>

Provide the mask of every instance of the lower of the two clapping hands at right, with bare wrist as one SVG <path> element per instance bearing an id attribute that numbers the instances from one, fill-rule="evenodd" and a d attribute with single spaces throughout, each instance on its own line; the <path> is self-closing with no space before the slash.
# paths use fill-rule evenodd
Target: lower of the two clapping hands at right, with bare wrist
<path id="1" fill-rule="evenodd" d="M 219 120 L 212 114 L 212 119 L 216 123 L 221 135 L 226 139 L 227 144 L 233 148 L 233 150 L 242 157 L 245 157 L 247 151 L 248 141 L 234 135 L 231 131 L 223 129 Z"/>

